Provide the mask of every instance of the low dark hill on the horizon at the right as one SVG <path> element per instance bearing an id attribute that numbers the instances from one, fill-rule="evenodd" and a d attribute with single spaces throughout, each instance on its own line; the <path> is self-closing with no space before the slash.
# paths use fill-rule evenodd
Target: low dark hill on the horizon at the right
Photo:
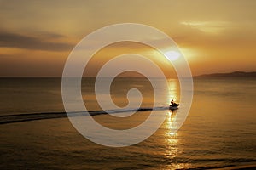
<path id="1" fill-rule="evenodd" d="M 256 71 L 253 71 L 253 72 L 234 71 L 229 73 L 213 73 L 213 74 L 204 74 L 196 77 L 256 77 Z"/>

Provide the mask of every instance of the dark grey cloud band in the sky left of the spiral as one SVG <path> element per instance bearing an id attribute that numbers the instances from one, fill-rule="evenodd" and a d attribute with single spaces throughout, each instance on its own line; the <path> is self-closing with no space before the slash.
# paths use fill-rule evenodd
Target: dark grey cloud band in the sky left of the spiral
<path id="1" fill-rule="evenodd" d="M 46 34 L 32 37 L 12 32 L 0 31 L 0 47 L 2 48 L 25 48 L 45 51 L 67 51 L 73 48 L 73 44 L 65 42 L 53 42 L 61 35 Z"/>

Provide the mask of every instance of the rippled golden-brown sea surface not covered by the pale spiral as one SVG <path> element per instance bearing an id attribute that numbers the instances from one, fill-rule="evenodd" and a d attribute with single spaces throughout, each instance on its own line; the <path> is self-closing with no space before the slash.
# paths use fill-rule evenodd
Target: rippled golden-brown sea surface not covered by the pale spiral
<path id="1" fill-rule="evenodd" d="M 137 88 L 143 95 L 138 111 L 109 108 L 113 114 L 137 111 L 117 121 L 97 104 L 94 81 L 82 81 L 84 105 L 105 127 L 135 127 L 155 108 L 147 79 L 117 78 L 110 91 L 119 107 L 128 105 L 129 89 Z M 179 82 L 169 79 L 168 86 L 169 93 L 160 94 L 166 102 L 156 105 L 166 114 L 162 126 L 139 144 L 113 148 L 85 139 L 69 122 L 61 99 L 61 78 L 0 78 L 0 169 L 256 168 L 255 79 L 195 78 L 191 110 L 177 133 L 172 128 L 183 105 L 176 111 L 167 106 L 171 99 L 179 102 Z M 103 100 L 104 95 L 100 94 Z"/>

